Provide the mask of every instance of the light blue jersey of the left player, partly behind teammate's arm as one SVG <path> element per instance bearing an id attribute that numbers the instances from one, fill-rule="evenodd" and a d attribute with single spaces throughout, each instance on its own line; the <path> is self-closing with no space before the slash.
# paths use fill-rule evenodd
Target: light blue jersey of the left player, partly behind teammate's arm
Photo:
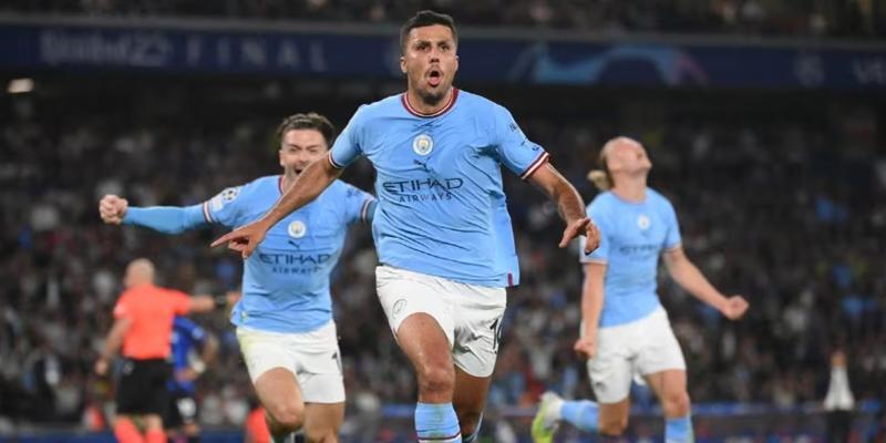
<path id="1" fill-rule="evenodd" d="M 282 195 L 281 177 L 227 188 L 203 205 L 208 222 L 228 227 L 260 218 Z M 237 326 L 305 332 L 332 318 L 329 275 L 339 260 L 348 225 L 367 218 L 373 197 L 336 181 L 313 202 L 268 230 L 244 264 Z"/>

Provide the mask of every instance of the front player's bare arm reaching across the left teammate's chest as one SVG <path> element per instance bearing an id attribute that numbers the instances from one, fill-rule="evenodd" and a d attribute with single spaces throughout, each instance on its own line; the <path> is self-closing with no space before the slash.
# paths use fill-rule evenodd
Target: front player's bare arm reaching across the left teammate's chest
<path id="1" fill-rule="evenodd" d="M 244 259 L 248 258 L 271 226 L 317 198 L 341 175 L 341 171 L 332 166 L 328 158 L 315 161 L 261 218 L 228 233 L 213 241 L 212 246 L 228 243 L 228 248 L 239 251 Z"/>

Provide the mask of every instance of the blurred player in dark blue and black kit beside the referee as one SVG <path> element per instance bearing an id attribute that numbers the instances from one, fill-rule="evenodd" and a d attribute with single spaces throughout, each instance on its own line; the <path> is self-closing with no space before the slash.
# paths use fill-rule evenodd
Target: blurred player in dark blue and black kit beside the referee
<path id="1" fill-rule="evenodd" d="M 176 317 L 172 334 L 173 377 L 167 383 L 169 404 L 163 425 L 169 440 L 183 435 L 188 443 L 199 441 L 195 380 L 215 359 L 218 342 L 187 317 Z"/>

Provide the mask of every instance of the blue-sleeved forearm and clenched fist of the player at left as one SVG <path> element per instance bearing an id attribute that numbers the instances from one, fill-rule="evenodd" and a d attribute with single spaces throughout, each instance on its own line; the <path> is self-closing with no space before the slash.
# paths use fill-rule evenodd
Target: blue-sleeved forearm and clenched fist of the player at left
<path id="1" fill-rule="evenodd" d="M 99 215 L 102 222 L 110 225 L 144 226 L 166 234 L 179 234 L 209 224 L 203 205 L 130 207 L 125 198 L 113 194 L 105 195 L 99 202 Z"/>

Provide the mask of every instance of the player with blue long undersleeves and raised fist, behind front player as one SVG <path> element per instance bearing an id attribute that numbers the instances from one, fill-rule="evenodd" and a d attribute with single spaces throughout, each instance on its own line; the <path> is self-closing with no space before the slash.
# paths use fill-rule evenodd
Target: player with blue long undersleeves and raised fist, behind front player
<path id="1" fill-rule="evenodd" d="M 230 187 L 188 207 L 128 207 L 114 195 L 99 210 L 111 224 L 146 226 L 176 234 L 209 224 L 241 226 L 258 219 L 334 138 L 324 116 L 308 113 L 282 121 L 282 175 Z M 371 222 L 375 199 L 336 181 L 311 205 L 292 213 L 269 233 L 244 264 L 243 299 L 234 307 L 240 351 L 275 441 L 303 426 L 309 442 L 336 442 L 344 420 L 341 372 L 329 276 L 348 226 Z"/>

